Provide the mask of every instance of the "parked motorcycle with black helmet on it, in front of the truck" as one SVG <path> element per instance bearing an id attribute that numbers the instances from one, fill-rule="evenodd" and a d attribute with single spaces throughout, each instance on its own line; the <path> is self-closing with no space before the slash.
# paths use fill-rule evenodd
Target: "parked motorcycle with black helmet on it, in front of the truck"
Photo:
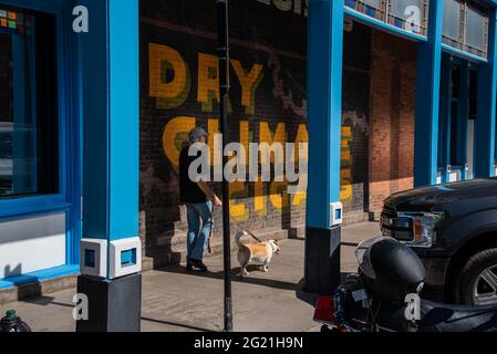
<path id="1" fill-rule="evenodd" d="M 469 308 L 422 299 L 426 270 L 397 240 L 363 241 L 355 257 L 358 273 L 315 304 L 321 332 L 497 332 L 496 305 Z"/>

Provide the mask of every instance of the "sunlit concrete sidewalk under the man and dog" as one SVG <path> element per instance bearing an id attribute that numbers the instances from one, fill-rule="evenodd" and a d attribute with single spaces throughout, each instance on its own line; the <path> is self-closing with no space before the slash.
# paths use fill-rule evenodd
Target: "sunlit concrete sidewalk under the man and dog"
<path id="1" fill-rule="evenodd" d="M 356 269 L 354 249 L 359 241 L 379 235 L 377 223 L 345 227 L 342 232 L 342 271 Z M 269 273 L 253 268 L 240 281 L 234 277 L 234 322 L 236 331 L 303 332 L 315 331 L 313 309 L 297 299 L 303 274 L 303 240 L 282 241 L 282 253 L 271 264 Z M 222 258 L 206 260 L 210 273 L 186 273 L 184 267 L 169 267 L 143 274 L 142 330 L 145 332 L 184 332 L 222 330 Z M 232 254 L 234 275 L 239 271 Z M 73 332 L 72 298 L 75 289 L 50 296 L 14 302 L 9 309 L 37 332 Z"/>

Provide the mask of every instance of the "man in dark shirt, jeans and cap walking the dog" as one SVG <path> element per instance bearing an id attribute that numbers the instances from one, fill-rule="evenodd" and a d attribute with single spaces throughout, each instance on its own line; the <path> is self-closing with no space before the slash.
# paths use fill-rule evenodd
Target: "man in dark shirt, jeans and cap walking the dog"
<path id="1" fill-rule="evenodd" d="M 193 181 L 188 175 L 190 164 L 197 158 L 188 155 L 189 147 L 196 143 L 205 144 L 207 137 L 207 132 L 201 127 L 193 129 L 188 135 L 189 144 L 182 149 L 179 155 L 179 199 L 182 204 L 186 205 L 188 221 L 187 271 L 191 271 L 194 268 L 203 272 L 208 271 L 203 260 L 206 242 L 214 227 L 213 208 L 221 206 L 220 199 L 207 183 Z"/>

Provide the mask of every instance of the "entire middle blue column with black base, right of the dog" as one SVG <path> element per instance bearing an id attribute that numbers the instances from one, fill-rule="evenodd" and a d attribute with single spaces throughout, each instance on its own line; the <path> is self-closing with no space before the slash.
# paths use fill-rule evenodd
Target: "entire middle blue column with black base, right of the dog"
<path id="1" fill-rule="evenodd" d="M 340 284 L 343 0 L 309 1 L 306 288 Z"/>

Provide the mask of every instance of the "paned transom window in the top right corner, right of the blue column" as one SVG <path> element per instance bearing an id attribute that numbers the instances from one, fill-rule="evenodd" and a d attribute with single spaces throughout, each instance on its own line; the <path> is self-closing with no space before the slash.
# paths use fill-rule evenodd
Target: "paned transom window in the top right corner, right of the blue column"
<path id="1" fill-rule="evenodd" d="M 444 0 L 444 43 L 486 58 L 488 10 L 469 0 Z"/>

